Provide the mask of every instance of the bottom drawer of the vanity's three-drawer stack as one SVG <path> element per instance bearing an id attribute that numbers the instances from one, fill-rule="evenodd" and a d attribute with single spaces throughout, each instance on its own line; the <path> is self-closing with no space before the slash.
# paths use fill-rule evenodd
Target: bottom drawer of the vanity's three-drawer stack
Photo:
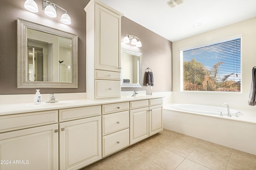
<path id="1" fill-rule="evenodd" d="M 102 157 L 129 146 L 129 129 L 102 137 Z"/>

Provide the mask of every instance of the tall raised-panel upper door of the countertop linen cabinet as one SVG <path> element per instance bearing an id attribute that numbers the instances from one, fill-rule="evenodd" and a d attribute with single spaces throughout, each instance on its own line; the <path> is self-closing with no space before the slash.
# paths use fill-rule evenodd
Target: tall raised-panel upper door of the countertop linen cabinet
<path id="1" fill-rule="evenodd" d="M 95 69 L 120 72 L 121 16 L 95 4 Z"/>

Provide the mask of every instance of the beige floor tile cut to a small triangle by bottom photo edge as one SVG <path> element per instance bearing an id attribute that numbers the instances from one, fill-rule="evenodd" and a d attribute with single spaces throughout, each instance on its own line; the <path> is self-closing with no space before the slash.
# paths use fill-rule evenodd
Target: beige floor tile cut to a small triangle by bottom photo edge
<path id="1" fill-rule="evenodd" d="M 210 170 L 209 168 L 202 166 L 192 160 L 185 159 L 175 170 Z"/>

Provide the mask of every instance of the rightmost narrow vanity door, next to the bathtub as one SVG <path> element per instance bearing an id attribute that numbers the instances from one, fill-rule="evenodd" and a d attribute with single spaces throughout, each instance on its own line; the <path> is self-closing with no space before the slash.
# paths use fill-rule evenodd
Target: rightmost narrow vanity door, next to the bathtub
<path id="1" fill-rule="evenodd" d="M 163 106 L 149 107 L 149 135 L 154 135 L 163 130 Z"/>

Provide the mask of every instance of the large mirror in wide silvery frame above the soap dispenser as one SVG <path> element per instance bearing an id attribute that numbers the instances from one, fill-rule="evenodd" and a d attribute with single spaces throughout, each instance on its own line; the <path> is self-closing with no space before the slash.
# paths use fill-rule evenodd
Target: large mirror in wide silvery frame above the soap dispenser
<path id="1" fill-rule="evenodd" d="M 17 88 L 78 88 L 77 35 L 17 19 Z"/>

